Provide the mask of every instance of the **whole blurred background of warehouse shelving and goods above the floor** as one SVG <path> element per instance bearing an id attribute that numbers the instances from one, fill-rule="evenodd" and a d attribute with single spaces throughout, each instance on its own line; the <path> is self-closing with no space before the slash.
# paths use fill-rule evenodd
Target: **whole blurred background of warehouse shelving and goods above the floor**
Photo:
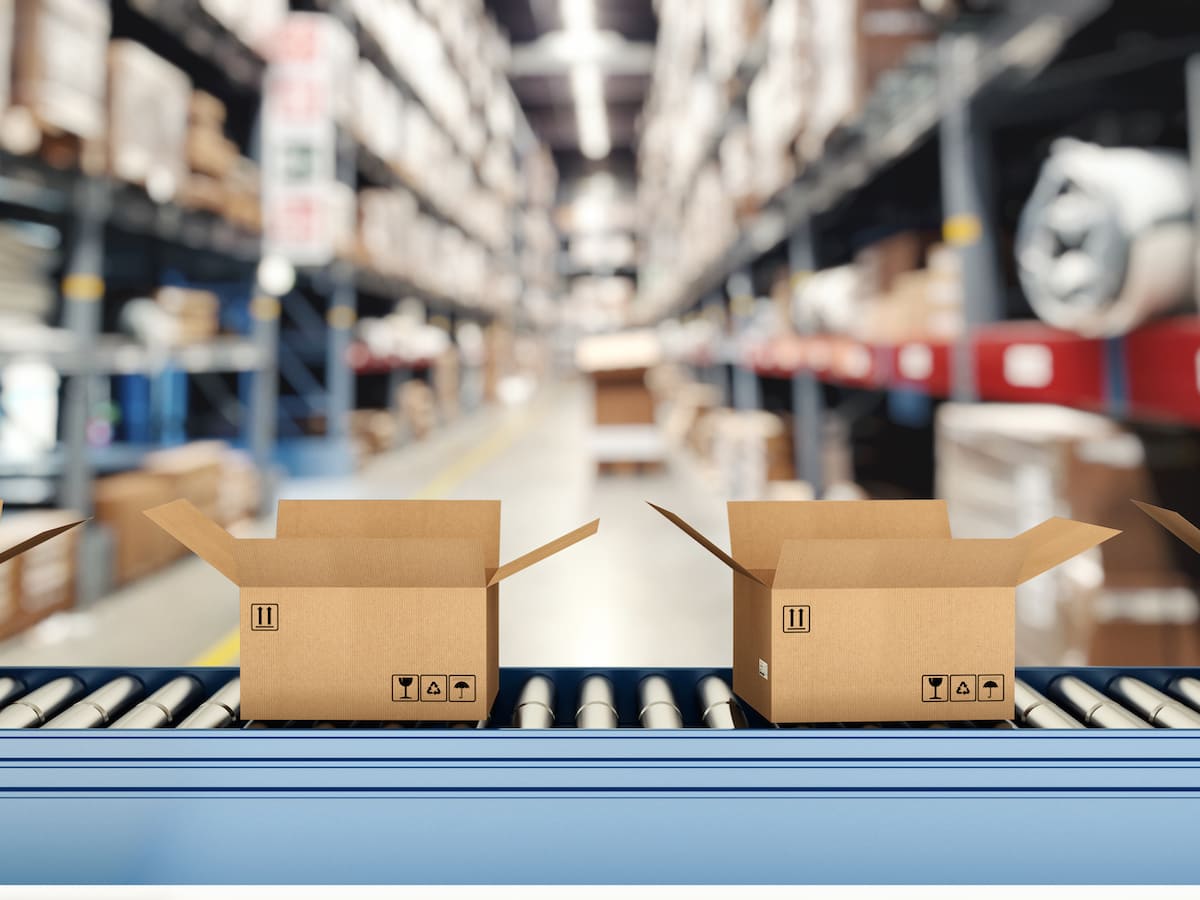
<path id="1" fill-rule="evenodd" d="M 941 496 L 964 536 L 1092 518 L 1129 550 L 1022 589 L 1021 661 L 1195 664 L 1195 562 L 1126 509 L 1200 521 L 1186 19 L 0 0 L 12 527 L 95 515 L 58 594 L 90 608 L 178 558 L 145 506 L 253 528 L 280 491 L 386 496 L 372 473 L 499 445 L 548 396 L 570 460 L 469 484 Z"/>

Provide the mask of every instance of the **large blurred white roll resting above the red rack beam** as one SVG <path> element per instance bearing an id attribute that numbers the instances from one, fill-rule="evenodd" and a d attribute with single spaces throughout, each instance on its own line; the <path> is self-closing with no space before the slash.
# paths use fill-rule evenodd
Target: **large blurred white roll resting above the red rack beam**
<path id="1" fill-rule="evenodd" d="M 1016 264 L 1038 317 L 1117 337 L 1193 294 L 1187 156 L 1062 138 L 1021 211 Z"/>

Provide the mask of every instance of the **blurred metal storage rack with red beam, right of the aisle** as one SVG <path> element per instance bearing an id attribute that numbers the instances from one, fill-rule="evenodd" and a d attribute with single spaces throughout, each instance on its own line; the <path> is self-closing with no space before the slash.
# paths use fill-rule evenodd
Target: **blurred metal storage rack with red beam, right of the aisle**
<path id="1" fill-rule="evenodd" d="M 691 360 L 728 385 L 738 408 L 760 406 L 764 388 L 778 392 L 790 385 L 798 478 L 818 494 L 824 486 L 820 436 L 830 388 L 935 401 L 1058 403 L 1130 421 L 1200 426 L 1200 317 L 1157 320 L 1112 340 L 1004 320 L 1010 304 L 997 208 L 1012 198 L 997 194 L 1004 173 L 994 170 L 992 158 L 1002 130 L 1026 126 L 1042 139 L 1061 120 L 1103 102 L 1105 90 L 1123 104 L 1118 108 L 1129 108 L 1128 92 L 1116 82 L 1153 70 L 1166 79 L 1157 84 L 1174 80 L 1186 96 L 1193 170 L 1200 172 L 1200 42 L 1163 32 L 1164 17 L 1175 12 L 1124 0 L 1019 1 L 953 23 L 937 38 L 932 60 L 911 59 L 893 72 L 886 96 L 877 91 L 823 158 L 769 198 L 738 240 L 674 296 L 643 305 L 640 319 L 653 323 L 752 296 L 772 266 L 786 268 L 794 286 L 845 258 L 856 228 L 866 230 L 888 215 L 900 226 L 931 223 L 929 198 L 940 197 L 943 239 L 961 254 L 960 341 L 876 346 L 802 334 L 751 352 L 722 342 Z M 1114 43 L 1122 29 L 1141 28 L 1147 32 L 1141 43 Z M 760 62 L 755 44 L 739 82 L 752 78 Z M 744 92 L 733 103 L 744 103 Z M 734 108 L 726 119 L 736 114 Z M 1030 146 L 1012 146 L 1009 155 L 1028 157 Z M 868 210 L 884 217 L 864 221 Z M 1012 376 L 1022 355 L 1034 358 L 1036 377 Z"/>

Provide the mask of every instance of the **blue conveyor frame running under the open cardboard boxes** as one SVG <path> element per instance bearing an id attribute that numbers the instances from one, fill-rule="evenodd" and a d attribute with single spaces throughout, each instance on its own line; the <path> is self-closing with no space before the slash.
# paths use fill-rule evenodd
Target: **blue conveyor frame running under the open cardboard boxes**
<path id="1" fill-rule="evenodd" d="M 1080 721 L 1066 713 L 1048 721 L 1025 702 L 1030 721 L 1018 714 L 1016 724 L 1050 727 L 769 728 L 752 720 L 714 730 L 700 727 L 695 686 L 713 674 L 727 680 L 727 670 L 599 672 L 613 685 L 619 727 L 570 727 L 578 684 L 598 671 L 502 670 L 492 726 L 482 730 L 0 731 L 6 877 L 794 883 L 850 872 L 866 882 L 1184 883 L 1196 876 L 1190 824 L 1200 732 L 1136 727 L 1133 704 L 1117 727 L 1103 727 L 1094 714 L 1092 727 L 1064 727 Z M 124 712 L 181 674 L 203 685 L 197 703 L 236 670 L 4 670 L 0 679 L 36 688 L 68 676 L 82 696 L 133 676 L 144 690 Z M 649 674 L 666 678 L 685 727 L 637 727 L 636 690 Z M 1078 697 L 1082 684 L 1111 704 L 1122 679 L 1175 691 L 1198 674 L 1018 671 L 1049 697 L 1043 709 L 1073 708 L 1060 685 Z M 557 718 L 566 727 L 505 727 L 535 676 L 557 688 Z M 1168 703 L 1195 715 L 1183 701 Z M 73 852 L 64 857 L 61 846 Z"/>

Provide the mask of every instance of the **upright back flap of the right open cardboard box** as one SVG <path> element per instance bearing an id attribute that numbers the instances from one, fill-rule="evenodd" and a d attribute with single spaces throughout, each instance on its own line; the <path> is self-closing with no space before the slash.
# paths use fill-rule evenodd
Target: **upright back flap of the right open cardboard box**
<path id="1" fill-rule="evenodd" d="M 784 541 L 949 538 L 944 500 L 732 500 L 730 548 L 748 569 L 774 569 Z"/>

